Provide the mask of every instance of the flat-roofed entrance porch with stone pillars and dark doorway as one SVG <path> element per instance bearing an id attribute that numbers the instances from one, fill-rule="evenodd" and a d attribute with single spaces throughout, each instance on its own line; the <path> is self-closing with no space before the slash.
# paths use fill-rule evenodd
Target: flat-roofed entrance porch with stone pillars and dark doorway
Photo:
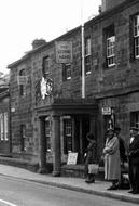
<path id="1" fill-rule="evenodd" d="M 52 163 L 53 175 L 59 176 L 70 152 L 78 154 L 77 164 L 83 164 L 86 133 L 93 132 L 97 140 L 97 111 L 95 100 L 58 100 L 37 108 L 40 172 L 46 172 L 47 163 Z"/>

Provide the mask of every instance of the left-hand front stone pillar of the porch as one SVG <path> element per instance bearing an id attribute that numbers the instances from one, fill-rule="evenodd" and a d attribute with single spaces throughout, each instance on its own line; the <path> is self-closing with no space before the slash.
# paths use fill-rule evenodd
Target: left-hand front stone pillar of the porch
<path id="1" fill-rule="evenodd" d="M 40 117 L 40 173 L 46 172 L 45 119 Z"/>

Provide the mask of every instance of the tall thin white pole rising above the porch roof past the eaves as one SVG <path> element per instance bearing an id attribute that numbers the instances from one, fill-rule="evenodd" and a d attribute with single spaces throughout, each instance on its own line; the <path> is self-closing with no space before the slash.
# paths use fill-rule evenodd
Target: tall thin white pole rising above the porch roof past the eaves
<path id="1" fill-rule="evenodd" d="M 84 62 L 84 20 L 83 0 L 81 0 L 81 42 L 82 42 L 82 99 L 85 99 L 85 62 Z"/>

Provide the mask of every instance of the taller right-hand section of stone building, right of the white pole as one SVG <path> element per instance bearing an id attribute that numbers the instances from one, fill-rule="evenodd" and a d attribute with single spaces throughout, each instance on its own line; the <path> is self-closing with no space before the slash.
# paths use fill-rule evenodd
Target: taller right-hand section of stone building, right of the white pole
<path id="1" fill-rule="evenodd" d="M 92 68 L 86 77 L 86 96 L 95 96 L 98 103 L 98 137 L 102 142 L 110 124 L 121 127 L 128 140 L 129 127 L 139 123 L 139 2 L 106 2 L 110 7 L 85 24 Z"/>

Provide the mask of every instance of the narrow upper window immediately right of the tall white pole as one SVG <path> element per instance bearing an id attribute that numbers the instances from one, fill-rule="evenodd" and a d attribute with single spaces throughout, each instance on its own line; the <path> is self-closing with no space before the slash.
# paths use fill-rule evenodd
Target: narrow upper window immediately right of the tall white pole
<path id="1" fill-rule="evenodd" d="M 85 39 L 85 74 L 91 74 L 91 38 Z"/>

